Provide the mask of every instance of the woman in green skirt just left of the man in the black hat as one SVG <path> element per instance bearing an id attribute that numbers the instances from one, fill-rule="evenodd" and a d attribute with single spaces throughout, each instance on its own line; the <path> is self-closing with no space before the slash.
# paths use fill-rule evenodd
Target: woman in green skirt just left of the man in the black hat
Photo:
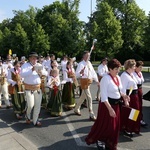
<path id="1" fill-rule="evenodd" d="M 22 119 L 22 114 L 25 112 L 25 97 L 22 86 L 22 78 L 20 76 L 20 63 L 14 62 L 14 68 L 11 68 L 8 72 L 8 83 L 11 86 L 11 99 L 13 104 L 14 113 L 17 119 Z"/>

